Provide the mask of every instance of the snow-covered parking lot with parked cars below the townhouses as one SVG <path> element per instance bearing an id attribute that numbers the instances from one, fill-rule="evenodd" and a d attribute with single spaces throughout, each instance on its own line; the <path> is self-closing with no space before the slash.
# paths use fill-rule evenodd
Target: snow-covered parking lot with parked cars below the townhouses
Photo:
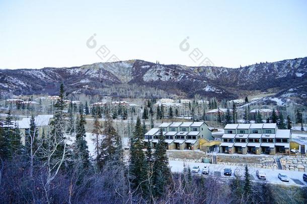
<path id="1" fill-rule="evenodd" d="M 190 168 L 193 168 L 193 166 L 199 166 L 200 171 L 199 175 L 201 174 L 201 169 L 205 165 L 204 163 L 192 163 L 192 162 L 182 162 L 182 161 L 169 161 L 170 167 L 172 172 L 182 172 L 183 171 L 183 165 L 189 165 Z M 210 169 L 210 175 L 212 176 L 220 176 L 222 178 L 231 177 L 234 178 L 234 171 L 236 168 L 240 169 L 240 172 L 242 175 L 244 175 L 245 167 L 242 166 L 230 166 L 230 165 L 221 165 L 221 164 L 206 164 Z M 224 168 L 231 168 L 232 169 L 232 176 L 224 176 Z M 259 181 L 259 179 L 256 176 L 256 170 L 262 170 L 266 173 L 267 180 L 265 182 L 270 182 L 274 184 L 292 184 L 292 185 L 300 185 L 300 186 L 307 186 L 307 182 L 303 181 L 302 175 L 304 172 L 298 172 L 298 171 L 285 171 L 285 170 L 278 170 L 278 169 L 261 169 L 261 168 L 249 168 L 249 172 L 251 174 L 251 179 L 255 181 Z M 289 177 L 289 182 L 283 182 L 279 180 L 277 177 L 278 173 L 284 173 Z"/>

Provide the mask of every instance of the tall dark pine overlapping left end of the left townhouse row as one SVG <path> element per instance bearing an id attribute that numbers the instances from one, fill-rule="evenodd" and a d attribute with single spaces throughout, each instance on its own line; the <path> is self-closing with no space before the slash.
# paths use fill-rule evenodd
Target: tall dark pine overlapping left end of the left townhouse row
<path id="1" fill-rule="evenodd" d="M 153 165 L 153 184 L 155 186 L 154 194 L 160 196 L 163 193 L 163 187 L 167 183 L 170 176 L 170 169 L 168 167 L 169 160 L 166 155 L 166 143 L 163 136 L 163 131 L 160 129 L 159 141 L 154 152 Z"/>

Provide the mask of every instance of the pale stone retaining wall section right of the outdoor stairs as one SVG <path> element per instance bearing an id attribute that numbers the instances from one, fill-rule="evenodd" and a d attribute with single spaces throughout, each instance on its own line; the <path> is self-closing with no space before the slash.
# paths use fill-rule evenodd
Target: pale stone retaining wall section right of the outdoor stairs
<path id="1" fill-rule="evenodd" d="M 307 157 L 290 157 L 280 158 L 281 164 L 285 170 L 307 172 Z"/>

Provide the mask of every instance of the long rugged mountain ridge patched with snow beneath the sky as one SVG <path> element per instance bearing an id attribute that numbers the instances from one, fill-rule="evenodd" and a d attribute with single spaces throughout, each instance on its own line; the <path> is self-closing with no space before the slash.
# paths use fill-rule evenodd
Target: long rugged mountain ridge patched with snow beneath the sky
<path id="1" fill-rule="evenodd" d="M 63 82 L 66 91 L 96 94 L 106 85 L 137 84 L 186 97 L 236 99 L 246 93 L 270 91 L 280 97 L 306 99 L 307 57 L 226 67 L 190 67 L 142 60 L 94 63 L 78 67 L 45 67 L 39 70 L 0 70 L 0 93 L 56 94 Z"/>

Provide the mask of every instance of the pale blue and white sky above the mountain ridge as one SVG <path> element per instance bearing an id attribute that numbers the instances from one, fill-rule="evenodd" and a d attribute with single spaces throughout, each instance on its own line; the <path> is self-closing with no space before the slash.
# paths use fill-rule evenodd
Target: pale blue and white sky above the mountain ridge
<path id="1" fill-rule="evenodd" d="M 3 1 L 0 69 L 307 56 L 307 1 Z"/>

